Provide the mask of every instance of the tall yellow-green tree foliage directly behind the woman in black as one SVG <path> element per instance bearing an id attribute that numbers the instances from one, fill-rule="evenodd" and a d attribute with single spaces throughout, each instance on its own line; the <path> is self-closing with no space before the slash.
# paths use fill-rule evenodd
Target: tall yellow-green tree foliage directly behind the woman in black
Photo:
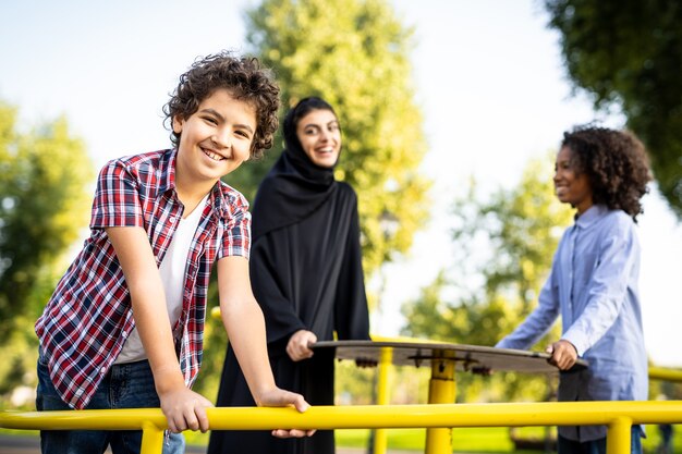
<path id="1" fill-rule="evenodd" d="M 343 131 L 337 177 L 358 193 L 370 275 L 391 251 L 409 249 L 428 214 L 430 184 L 417 169 L 426 143 L 413 100 L 412 29 L 385 0 L 265 0 L 248 11 L 246 28 L 253 53 L 273 69 L 285 107 L 313 95 L 334 107 Z M 382 232 L 383 212 L 399 219 L 394 235 Z"/>

